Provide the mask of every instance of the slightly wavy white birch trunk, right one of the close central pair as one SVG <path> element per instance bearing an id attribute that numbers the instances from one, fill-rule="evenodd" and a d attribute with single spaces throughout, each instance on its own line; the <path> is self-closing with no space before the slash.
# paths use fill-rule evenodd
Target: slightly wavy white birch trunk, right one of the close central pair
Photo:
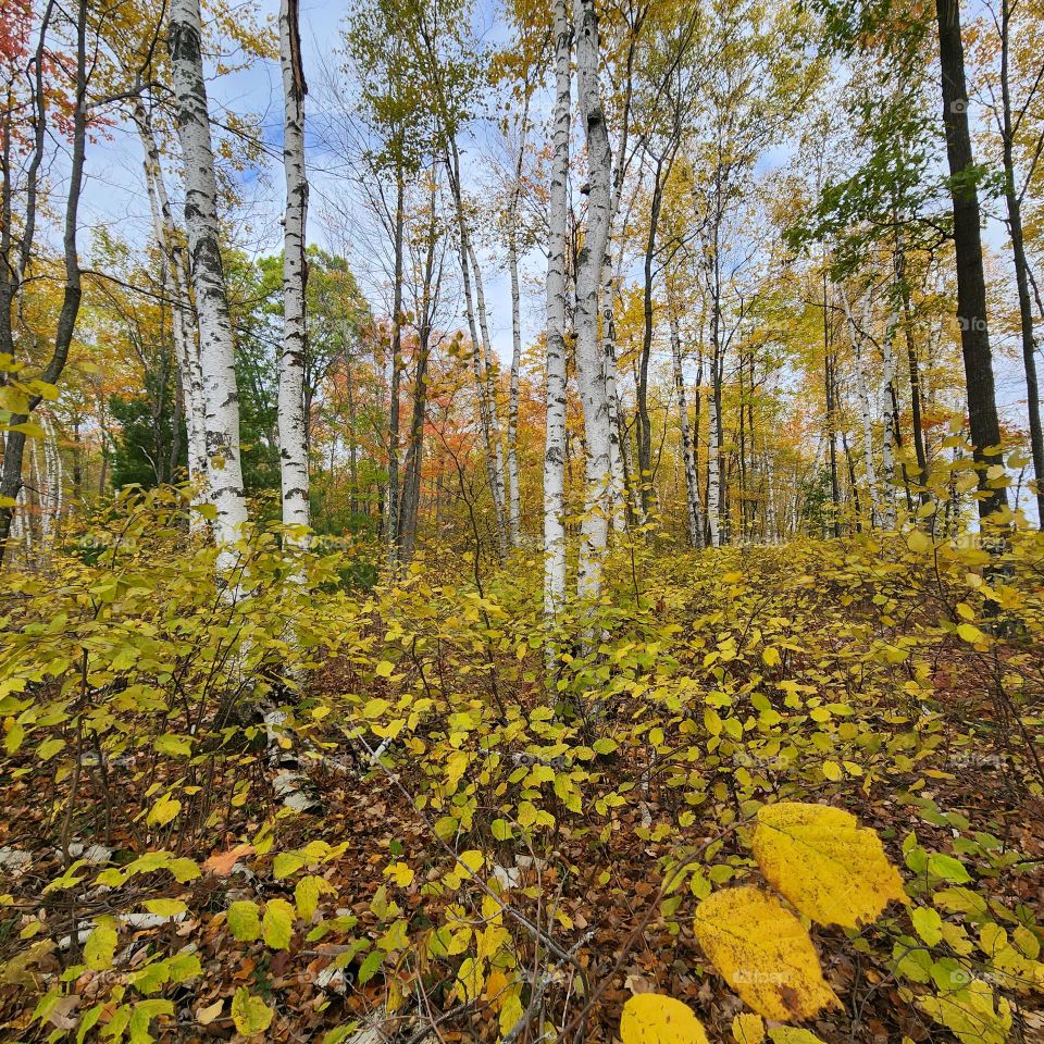
<path id="1" fill-rule="evenodd" d="M 581 525 L 577 594 L 597 598 L 612 510 L 612 438 L 604 352 L 598 340 L 598 290 L 609 239 L 612 156 L 598 85 L 598 16 L 594 0 L 574 0 L 576 78 L 587 141 L 587 228 L 576 260 L 576 383 L 587 443 L 586 498 Z"/>

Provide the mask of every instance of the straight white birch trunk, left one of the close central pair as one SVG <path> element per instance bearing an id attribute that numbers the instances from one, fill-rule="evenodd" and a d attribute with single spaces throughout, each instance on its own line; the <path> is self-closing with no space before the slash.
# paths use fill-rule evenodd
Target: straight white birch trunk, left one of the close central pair
<path id="1" fill-rule="evenodd" d="M 566 241 L 568 235 L 570 51 L 567 0 L 555 12 L 555 115 L 547 251 L 547 428 L 544 440 L 544 614 L 566 598 Z"/>

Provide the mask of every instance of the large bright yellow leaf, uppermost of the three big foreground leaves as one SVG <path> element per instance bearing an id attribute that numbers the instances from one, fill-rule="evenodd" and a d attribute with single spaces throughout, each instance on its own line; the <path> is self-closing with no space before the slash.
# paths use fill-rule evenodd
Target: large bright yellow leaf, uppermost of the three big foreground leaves
<path id="1" fill-rule="evenodd" d="M 820 924 L 858 928 L 892 899 L 908 902 L 881 838 L 843 808 L 800 801 L 763 806 L 754 857 L 766 880 Z"/>

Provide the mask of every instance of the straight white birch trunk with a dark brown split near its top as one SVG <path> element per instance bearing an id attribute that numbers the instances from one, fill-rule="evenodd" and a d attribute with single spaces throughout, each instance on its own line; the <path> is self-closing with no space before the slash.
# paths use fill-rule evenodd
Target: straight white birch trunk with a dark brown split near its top
<path id="1" fill-rule="evenodd" d="M 283 246 L 283 353 L 279 358 L 279 475 L 283 524 L 307 526 L 309 517 L 308 425 L 304 417 L 304 358 L 308 351 L 304 290 L 308 262 L 308 177 L 304 172 L 304 95 L 298 0 L 279 3 L 279 61 L 283 66 L 283 165 L 286 214 Z M 303 536 L 290 537 L 303 543 Z"/>

